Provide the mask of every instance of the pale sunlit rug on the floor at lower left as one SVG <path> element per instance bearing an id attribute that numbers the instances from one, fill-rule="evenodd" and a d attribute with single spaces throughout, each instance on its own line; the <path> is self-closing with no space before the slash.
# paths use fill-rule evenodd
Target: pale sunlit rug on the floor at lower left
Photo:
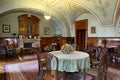
<path id="1" fill-rule="evenodd" d="M 40 80 L 37 60 L 5 65 L 6 80 Z"/>

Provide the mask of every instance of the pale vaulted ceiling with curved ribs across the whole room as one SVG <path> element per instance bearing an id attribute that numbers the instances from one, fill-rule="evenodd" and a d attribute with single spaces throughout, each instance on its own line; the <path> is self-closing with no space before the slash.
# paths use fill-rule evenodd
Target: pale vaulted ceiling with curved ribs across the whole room
<path id="1" fill-rule="evenodd" d="M 47 3 L 51 20 L 65 27 L 73 26 L 84 13 L 91 13 L 104 26 L 113 26 L 120 14 L 120 0 L 0 0 L 0 16 L 26 12 L 43 17 Z"/>

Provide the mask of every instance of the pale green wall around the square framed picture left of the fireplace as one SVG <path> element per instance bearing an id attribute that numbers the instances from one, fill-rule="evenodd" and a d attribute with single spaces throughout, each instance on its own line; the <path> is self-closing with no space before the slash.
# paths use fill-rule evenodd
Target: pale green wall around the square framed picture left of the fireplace
<path id="1" fill-rule="evenodd" d="M 10 33 L 3 33 L 3 24 L 10 25 Z M 0 17 L 0 37 L 10 37 L 13 36 L 12 33 L 18 33 L 18 25 L 18 19 L 16 15 Z"/>

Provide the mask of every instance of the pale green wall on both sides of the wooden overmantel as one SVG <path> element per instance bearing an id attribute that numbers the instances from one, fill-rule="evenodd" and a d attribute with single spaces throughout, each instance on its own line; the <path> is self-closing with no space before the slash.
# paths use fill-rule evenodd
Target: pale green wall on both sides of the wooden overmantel
<path id="1" fill-rule="evenodd" d="M 18 22 L 18 16 L 25 13 L 14 13 L 11 15 L 6 15 L 4 17 L 0 17 L 0 37 L 18 37 L 19 34 L 19 22 Z M 2 31 L 2 25 L 7 24 L 10 25 L 10 33 L 3 33 Z M 44 34 L 44 27 L 49 27 L 50 34 L 45 35 Z M 17 33 L 16 36 L 13 36 L 12 33 Z M 54 26 L 49 21 L 45 21 L 45 19 L 40 18 L 39 23 L 39 35 L 41 37 L 51 37 L 55 34 Z"/>

